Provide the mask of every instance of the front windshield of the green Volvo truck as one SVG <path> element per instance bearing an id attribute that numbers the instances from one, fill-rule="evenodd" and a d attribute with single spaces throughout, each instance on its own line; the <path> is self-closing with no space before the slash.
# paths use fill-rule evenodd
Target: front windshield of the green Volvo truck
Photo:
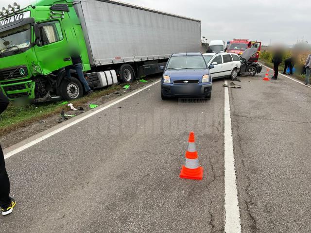
<path id="1" fill-rule="evenodd" d="M 20 50 L 30 46 L 30 25 L 0 33 L 0 53 Z"/>

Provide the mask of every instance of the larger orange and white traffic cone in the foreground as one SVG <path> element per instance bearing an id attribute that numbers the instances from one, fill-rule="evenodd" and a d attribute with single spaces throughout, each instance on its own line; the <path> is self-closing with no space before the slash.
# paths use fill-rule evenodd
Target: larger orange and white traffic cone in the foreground
<path id="1" fill-rule="evenodd" d="M 179 177 L 190 180 L 202 180 L 203 167 L 199 166 L 198 152 L 196 151 L 193 132 L 190 132 L 188 142 L 186 164 L 181 168 Z"/>

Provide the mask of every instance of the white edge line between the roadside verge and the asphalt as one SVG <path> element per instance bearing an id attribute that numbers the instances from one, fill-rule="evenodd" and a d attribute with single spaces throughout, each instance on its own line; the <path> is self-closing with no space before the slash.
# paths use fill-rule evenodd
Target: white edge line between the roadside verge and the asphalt
<path id="1" fill-rule="evenodd" d="M 138 94 L 139 92 L 141 92 L 143 90 L 146 90 L 147 88 L 149 88 L 149 87 L 159 83 L 159 82 L 160 82 L 160 80 L 158 80 L 155 83 L 152 83 L 152 84 L 150 84 L 148 86 L 145 86 L 145 87 L 143 87 L 143 88 L 141 88 L 141 89 L 139 89 L 139 90 L 137 90 L 137 91 L 135 91 L 135 92 L 133 92 L 133 93 L 131 93 L 131 94 L 121 98 L 121 99 L 119 99 L 119 100 L 116 100 L 116 101 L 114 101 L 114 102 L 112 102 L 112 103 L 110 103 L 110 104 L 108 104 L 108 105 L 106 105 L 106 106 L 104 106 L 104 107 L 94 111 L 94 112 L 91 112 L 90 114 L 87 114 L 86 116 L 78 118 L 78 119 L 70 122 L 69 124 L 64 125 L 63 127 L 59 128 L 57 130 L 52 131 L 51 133 L 47 133 L 46 135 L 44 135 L 42 137 L 39 137 L 39 138 L 35 139 L 34 141 L 31 141 L 31 142 L 29 142 L 29 143 L 27 143 L 27 144 L 25 144 L 25 145 L 15 149 L 15 150 L 12 150 L 12 151 L 4 154 L 4 159 L 7 159 L 7 158 L 11 157 L 12 155 L 15 155 L 15 154 L 17 154 L 17 153 L 19 153 L 19 152 L 21 152 L 23 150 L 26 150 L 27 148 L 30 148 L 30 147 L 34 146 L 35 144 L 37 144 L 39 142 L 42 142 L 43 140 L 51 137 L 52 135 L 54 135 L 56 133 L 59 133 L 59 132 L 62 132 L 63 130 L 66 130 L 67 128 L 69 128 L 69 127 L 71 127 L 71 126 L 73 126 L 73 125 L 75 125 L 75 124 L 77 124 L 77 123 L 87 119 L 88 117 L 94 116 L 95 114 L 98 114 L 98 113 L 104 111 L 105 109 L 110 108 L 111 106 L 116 105 L 117 103 L 120 103 L 121 101 L 126 100 L 126 99 L 128 99 L 128 98 L 130 98 L 130 97 L 132 97 L 132 96 L 134 96 L 136 94 Z"/>

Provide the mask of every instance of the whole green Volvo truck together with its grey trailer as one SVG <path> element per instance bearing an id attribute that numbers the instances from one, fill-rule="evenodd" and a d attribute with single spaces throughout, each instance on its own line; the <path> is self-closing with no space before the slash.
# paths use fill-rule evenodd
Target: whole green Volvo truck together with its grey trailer
<path id="1" fill-rule="evenodd" d="M 15 3 L 0 12 L 0 89 L 10 100 L 73 100 L 85 90 L 75 70 L 67 78 L 71 54 L 99 89 L 162 73 L 172 53 L 200 49 L 196 19 L 115 0 Z"/>

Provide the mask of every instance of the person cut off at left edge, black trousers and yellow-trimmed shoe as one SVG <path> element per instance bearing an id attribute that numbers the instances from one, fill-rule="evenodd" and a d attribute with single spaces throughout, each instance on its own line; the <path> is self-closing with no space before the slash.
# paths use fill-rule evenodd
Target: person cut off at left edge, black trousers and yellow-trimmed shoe
<path id="1" fill-rule="evenodd" d="M 8 105 L 8 98 L 0 91 L 0 114 Z M 16 201 L 10 197 L 10 180 L 5 169 L 4 155 L 0 145 L 0 206 L 2 215 L 11 214 L 15 205 Z"/>

